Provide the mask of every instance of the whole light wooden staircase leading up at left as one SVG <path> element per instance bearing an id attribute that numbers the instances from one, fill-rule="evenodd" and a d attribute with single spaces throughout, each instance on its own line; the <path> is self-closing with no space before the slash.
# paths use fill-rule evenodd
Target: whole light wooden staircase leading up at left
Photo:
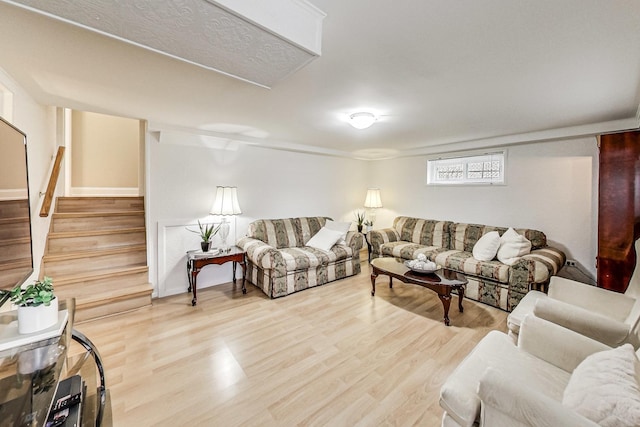
<path id="1" fill-rule="evenodd" d="M 76 299 L 76 321 L 151 304 L 142 197 L 60 197 L 42 276 L 61 299 Z"/>

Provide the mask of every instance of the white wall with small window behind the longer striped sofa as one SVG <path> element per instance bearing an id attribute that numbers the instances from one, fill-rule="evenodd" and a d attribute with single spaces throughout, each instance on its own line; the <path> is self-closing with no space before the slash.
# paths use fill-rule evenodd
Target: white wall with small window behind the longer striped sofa
<path id="1" fill-rule="evenodd" d="M 384 206 L 376 228 L 396 215 L 533 228 L 595 277 L 596 139 L 512 146 L 507 156 L 504 186 L 427 186 L 425 156 L 372 162 Z"/>

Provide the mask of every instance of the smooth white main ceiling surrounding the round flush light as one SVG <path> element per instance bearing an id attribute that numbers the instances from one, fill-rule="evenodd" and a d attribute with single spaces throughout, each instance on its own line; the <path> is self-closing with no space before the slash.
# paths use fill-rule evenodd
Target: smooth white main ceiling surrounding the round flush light
<path id="1" fill-rule="evenodd" d="M 43 104 L 360 158 L 639 125 L 638 1 L 311 2 L 322 56 L 271 89 L 1 2 L 0 67 Z M 380 119 L 353 129 L 359 110 Z"/>

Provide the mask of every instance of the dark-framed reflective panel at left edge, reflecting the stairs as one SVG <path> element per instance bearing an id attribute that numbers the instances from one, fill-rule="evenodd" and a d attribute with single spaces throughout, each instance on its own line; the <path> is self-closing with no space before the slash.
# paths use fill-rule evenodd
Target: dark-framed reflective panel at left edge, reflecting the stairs
<path id="1" fill-rule="evenodd" d="M 0 117 L 0 305 L 31 273 L 27 136 Z"/>

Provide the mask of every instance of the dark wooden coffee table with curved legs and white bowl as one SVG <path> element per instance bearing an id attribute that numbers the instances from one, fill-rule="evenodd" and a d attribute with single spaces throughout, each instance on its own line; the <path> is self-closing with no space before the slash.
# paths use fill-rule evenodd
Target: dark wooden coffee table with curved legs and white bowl
<path id="1" fill-rule="evenodd" d="M 462 299 L 467 278 L 456 271 L 441 268 L 429 274 L 415 273 L 402 262 L 396 261 L 395 258 L 376 258 L 371 261 L 371 296 L 376 294 L 376 277 L 380 274 L 389 276 L 389 288 L 393 288 L 393 278 L 395 277 L 403 283 L 422 286 L 437 293 L 438 298 L 442 301 L 444 324 L 447 326 L 450 324 L 451 291 L 458 291 L 458 310 L 460 313 L 464 311 Z"/>

